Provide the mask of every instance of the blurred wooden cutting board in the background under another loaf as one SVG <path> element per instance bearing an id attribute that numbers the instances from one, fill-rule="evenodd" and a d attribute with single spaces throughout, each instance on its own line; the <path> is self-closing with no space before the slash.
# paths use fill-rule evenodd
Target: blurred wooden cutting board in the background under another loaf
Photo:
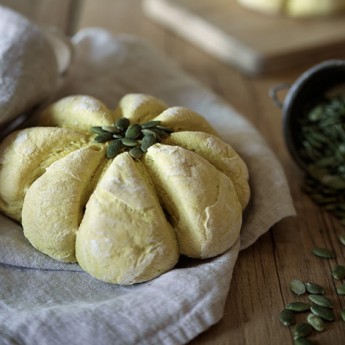
<path id="1" fill-rule="evenodd" d="M 249 74 L 345 58 L 344 16 L 269 16 L 236 0 L 143 0 L 143 9 L 152 20 Z"/>

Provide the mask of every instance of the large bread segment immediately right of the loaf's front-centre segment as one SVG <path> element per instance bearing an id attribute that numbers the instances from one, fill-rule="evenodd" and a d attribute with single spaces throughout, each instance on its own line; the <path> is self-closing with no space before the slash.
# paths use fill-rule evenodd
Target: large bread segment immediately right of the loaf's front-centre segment
<path id="1" fill-rule="evenodd" d="M 151 146 L 144 164 L 172 218 L 182 254 L 209 258 L 236 242 L 242 207 L 227 176 L 178 146 Z"/>

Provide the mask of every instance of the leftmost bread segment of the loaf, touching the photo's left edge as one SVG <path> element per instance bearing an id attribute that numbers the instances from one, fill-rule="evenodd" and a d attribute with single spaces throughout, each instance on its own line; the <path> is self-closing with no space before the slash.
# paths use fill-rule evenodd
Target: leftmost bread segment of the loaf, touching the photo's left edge
<path id="1" fill-rule="evenodd" d="M 47 166 L 86 142 L 85 134 L 68 128 L 33 127 L 10 134 L 0 146 L 1 210 L 20 222 L 30 185 Z"/>

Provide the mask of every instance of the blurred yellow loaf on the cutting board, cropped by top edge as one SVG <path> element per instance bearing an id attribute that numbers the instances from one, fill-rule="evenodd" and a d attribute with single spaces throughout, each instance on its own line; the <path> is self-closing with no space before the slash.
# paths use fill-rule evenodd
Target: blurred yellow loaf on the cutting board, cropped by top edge
<path id="1" fill-rule="evenodd" d="M 313 17 L 339 14 L 345 0 L 237 0 L 241 5 L 269 14 L 290 17 Z"/>

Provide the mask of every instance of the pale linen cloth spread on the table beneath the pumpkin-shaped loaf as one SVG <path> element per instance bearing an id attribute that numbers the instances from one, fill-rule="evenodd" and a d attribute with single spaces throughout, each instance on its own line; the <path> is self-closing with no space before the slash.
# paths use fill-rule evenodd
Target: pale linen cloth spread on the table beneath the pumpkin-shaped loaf
<path id="1" fill-rule="evenodd" d="M 192 108 L 246 161 L 252 199 L 241 238 L 229 251 L 203 261 L 183 258 L 170 272 L 134 286 L 107 284 L 77 264 L 48 258 L 1 216 L 0 344 L 187 343 L 222 318 L 240 248 L 294 214 L 284 172 L 250 123 L 147 42 L 86 29 L 73 44 L 74 62 L 55 98 L 88 94 L 115 107 L 124 94 L 141 92 Z"/>

